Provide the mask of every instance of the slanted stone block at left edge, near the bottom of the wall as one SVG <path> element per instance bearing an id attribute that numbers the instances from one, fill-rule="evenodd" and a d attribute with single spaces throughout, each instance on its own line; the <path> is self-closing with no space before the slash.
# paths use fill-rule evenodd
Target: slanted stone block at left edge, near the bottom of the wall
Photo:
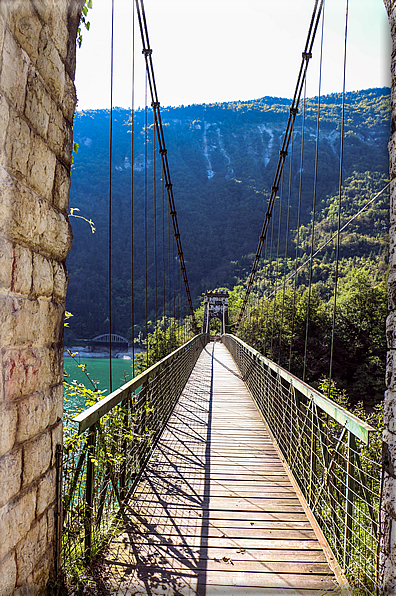
<path id="1" fill-rule="evenodd" d="M 0 560 L 29 532 L 35 511 L 36 490 L 26 491 L 0 509 Z"/>

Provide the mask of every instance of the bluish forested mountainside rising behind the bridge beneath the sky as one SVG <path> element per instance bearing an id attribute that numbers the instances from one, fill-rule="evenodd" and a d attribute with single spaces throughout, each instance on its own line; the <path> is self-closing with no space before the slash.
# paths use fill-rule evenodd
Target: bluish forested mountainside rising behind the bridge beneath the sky
<path id="1" fill-rule="evenodd" d="M 343 220 L 380 190 L 388 172 L 389 89 L 347 94 L 343 176 Z M 192 105 L 162 110 L 174 196 L 190 286 L 198 306 L 203 291 L 243 283 L 250 270 L 273 182 L 290 100 L 265 97 L 251 102 Z M 161 229 L 160 161 L 154 164 L 152 116 L 148 114 L 145 160 L 144 111 L 116 109 L 113 121 L 112 283 L 113 330 L 131 337 L 131 180 L 134 185 L 135 335 L 144 319 L 144 196 L 147 219 Z M 339 176 L 341 96 L 321 100 L 317 186 L 317 241 L 333 229 Z M 316 146 L 317 99 L 306 104 L 301 227 L 299 243 L 309 242 Z M 285 168 L 284 187 L 291 175 L 291 232 L 288 255 L 295 253 L 301 164 L 302 110 L 296 118 L 292 167 Z M 133 138 L 133 158 L 132 158 Z M 74 315 L 66 338 L 90 338 L 108 330 L 107 255 L 109 193 L 109 111 L 77 113 L 70 206 L 95 223 L 91 234 L 85 221 L 72 218 L 74 243 L 67 261 L 70 284 L 67 309 Z M 290 155 L 289 155 L 290 158 Z M 145 161 L 147 170 L 145 172 Z M 164 218 L 167 217 L 167 206 Z M 363 259 L 386 268 L 388 205 L 373 203 L 348 230 L 343 258 Z M 286 230 L 282 230 L 281 244 Z M 158 232 L 160 235 L 160 232 Z M 162 232 L 161 232 L 162 234 Z M 159 237 L 157 257 L 162 259 Z M 166 244 L 167 240 L 165 240 Z M 282 248 L 282 247 L 281 247 Z M 331 250 L 316 265 L 315 282 L 331 274 Z M 149 318 L 154 317 L 154 245 L 148 246 Z M 348 267 L 346 267 L 348 269 Z M 264 279 L 264 270 L 262 279 Z M 304 279 L 301 278 L 301 283 Z M 159 313 L 161 315 L 161 311 Z"/>

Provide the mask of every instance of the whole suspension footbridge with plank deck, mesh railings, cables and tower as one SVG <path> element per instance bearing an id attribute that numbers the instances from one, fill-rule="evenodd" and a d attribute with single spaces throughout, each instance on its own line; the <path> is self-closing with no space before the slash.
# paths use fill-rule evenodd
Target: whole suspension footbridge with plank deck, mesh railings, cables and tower
<path id="1" fill-rule="evenodd" d="M 173 290 L 177 296 L 173 298 L 173 315 L 177 318 L 177 304 L 178 317 L 183 321 L 184 304 L 189 311 L 189 328 L 186 324 L 178 327 L 178 347 L 168 350 L 170 353 L 161 358 L 158 334 L 162 333 L 166 343 L 167 305 L 172 314 L 171 300 L 166 299 L 167 264 L 163 261 L 165 322 L 164 327 L 157 328 L 151 336 L 155 343 L 152 349 L 155 362 L 149 362 L 148 344 L 146 369 L 78 414 L 74 418 L 77 433 L 67 442 L 63 453 L 57 454 L 59 499 L 63 494 L 63 525 L 59 521 L 58 528 L 58 571 L 62 569 L 70 578 L 76 561 L 85 561 L 88 565 L 95 554 L 101 552 L 101 564 L 106 570 L 103 589 L 109 594 L 376 594 L 382 473 L 381 464 L 370 450 L 371 436 L 376 429 L 330 398 L 341 234 L 366 208 L 347 222 L 341 217 L 348 11 L 336 229 L 324 245 L 316 247 L 313 219 L 310 253 L 305 259 L 299 256 L 297 238 L 294 266 L 288 271 L 286 240 L 281 282 L 278 234 L 274 265 L 277 275 L 273 276 L 278 281 L 265 288 L 264 295 L 260 294 L 259 264 L 263 250 L 267 261 L 267 250 L 272 250 L 269 237 L 273 235 L 277 201 L 282 193 L 287 197 L 283 189 L 285 166 L 293 167 L 296 117 L 302 113 L 304 127 L 307 71 L 315 37 L 320 31 L 323 36 L 323 2 L 315 1 L 246 292 L 233 321 L 228 320 L 226 294 L 207 293 L 201 329 L 183 256 L 142 0 L 136 0 L 136 15 L 146 62 L 146 89 L 151 94 L 157 143 L 154 148 L 160 156 L 161 186 L 169 204 L 168 225 L 171 221 L 173 228 L 169 252 L 177 255 L 180 268 L 175 283 L 173 259 Z M 313 218 L 320 95 L 317 110 Z M 303 143 L 304 128 L 300 137 Z M 297 177 L 300 193 L 302 160 L 301 148 Z M 291 173 L 288 179 L 291 186 Z M 387 189 L 388 186 L 376 193 L 367 205 Z M 289 204 L 284 210 L 287 224 L 290 196 L 289 192 Z M 111 176 L 109 199 L 111 212 Z M 281 214 L 280 207 L 279 230 Z M 326 394 L 306 382 L 306 372 L 313 262 L 329 244 L 335 252 L 335 285 Z M 147 272 L 147 239 L 145 250 Z M 111 258 L 109 263 L 111 266 Z M 157 276 L 157 264 L 155 267 Z M 291 315 L 290 309 L 287 314 L 285 296 L 288 288 L 294 288 L 296 295 L 296 278 L 302 268 L 309 271 L 310 285 L 304 366 L 302 378 L 299 378 L 291 366 L 293 338 L 290 345 L 285 346 L 283 322 L 286 316 L 294 321 L 295 302 Z M 169 292 L 171 277 L 169 265 Z M 109 296 L 111 311 L 111 288 Z M 239 335 L 244 326 L 257 322 L 259 312 L 263 309 L 268 312 L 274 297 L 274 313 L 278 304 L 281 324 L 276 336 L 272 330 L 259 352 L 244 343 Z M 147 286 L 145 299 L 147 316 Z M 156 313 L 157 300 L 159 302 L 156 295 Z M 270 319 L 271 316 L 275 314 L 270 315 Z M 220 341 L 211 339 L 212 318 L 220 319 Z M 111 351 L 111 312 L 109 319 L 106 341 Z M 146 337 L 149 337 L 147 320 Z M 285 354 L 281 357 L 282 350 L 287 352 L 287 357 Z"/>

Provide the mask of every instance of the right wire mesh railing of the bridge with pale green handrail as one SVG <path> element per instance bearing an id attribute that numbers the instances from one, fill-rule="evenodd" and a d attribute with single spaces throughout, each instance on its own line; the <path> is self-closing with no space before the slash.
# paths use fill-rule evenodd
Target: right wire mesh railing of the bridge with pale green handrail
<path id="1" fill-rule="evenodd" d="M 381 463 L 375 429 L 240 339 L 224 335 L 285 463 L 356 594 L 376 594 Z"/>

